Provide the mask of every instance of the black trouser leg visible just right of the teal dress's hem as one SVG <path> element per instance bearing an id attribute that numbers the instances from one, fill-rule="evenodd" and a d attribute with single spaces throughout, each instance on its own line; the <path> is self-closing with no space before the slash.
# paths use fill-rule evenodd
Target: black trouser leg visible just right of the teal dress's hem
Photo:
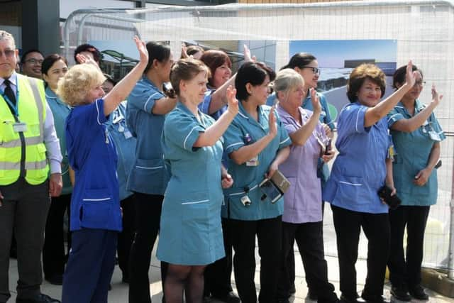
<path id="1" fill-rule="evenodd" d="M 228 230 L 228 220 L 222 218 L 222 233 L 226 256 L 217 260 L 215 263 L 208 265 L 204 272 L 204 295 L 210 294 L 214 297 L 222 297 L 224 294 L 232 291 L 232 243 Z"/>

